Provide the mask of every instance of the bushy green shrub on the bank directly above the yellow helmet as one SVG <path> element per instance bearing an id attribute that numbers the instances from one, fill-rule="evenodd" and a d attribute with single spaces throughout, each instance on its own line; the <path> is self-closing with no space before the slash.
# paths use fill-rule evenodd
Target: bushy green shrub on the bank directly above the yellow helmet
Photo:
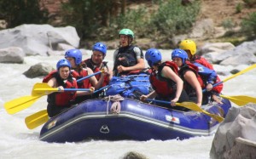
<path id="1" fill-rule="evenodd" d="M 170 40 L 174 35 L 188 33 L 200 11 L 200 2 L 183 6 L 180 1 L 161 1 L 160 8 L 150 21 L 152 32 L 157 31 Z"/>

